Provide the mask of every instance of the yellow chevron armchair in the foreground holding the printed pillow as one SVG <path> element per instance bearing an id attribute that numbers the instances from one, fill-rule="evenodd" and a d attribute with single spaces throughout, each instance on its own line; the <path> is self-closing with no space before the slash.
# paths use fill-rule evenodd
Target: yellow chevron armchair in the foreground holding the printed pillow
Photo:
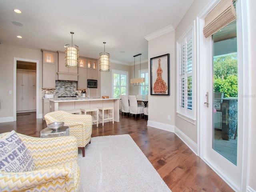
<path id="1" fill-rule="evenodd" d="M 7 134 L 0 134 L 0 138 Z M 18 173 L 0 171 L 1 192 L 79 191 L 80 170 L 75 137 L 35 138 L 17 134 L 32 155 L 35 169 Z"/>

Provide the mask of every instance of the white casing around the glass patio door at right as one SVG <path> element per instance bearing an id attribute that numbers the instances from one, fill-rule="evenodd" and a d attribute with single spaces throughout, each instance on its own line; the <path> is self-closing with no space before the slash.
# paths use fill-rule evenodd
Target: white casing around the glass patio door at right
<path id="1" fill-rule="evenodd" d="M 204 27 L 204 18 L 205 16 L 218 4 L 220 0 L 213 0 L 211 1 L 208 6 L 198 15 L 197 17 L 197 52 L 198 52 L 198 155 L 202 158 L 225 182 L 227 182 L 235 191 L 246 191 L 248 187 L 248 173 L 249 173 L 249 156 L 250 156 L 250 111 L 251 111 L 251 95 L 250 87 L 251 87 L 251 76 L 250 76 L 250 68 L 251 63 L 250 60 L 250 42 L 249 38 L 249 30 L 248 30 L 248 19 L 249 11 L 248 11 L 248 0 L 237 1 L 237 36 L 238 36 L 238 63 L 243 63 L 243 66 L 238 66 L 238 71 L 242 73 L 240 74 L 240 82 L 238 82 L 238 86 L 242 86 L 242 89 L 238 90 L 238 98 L 240 98 L 239 102 L 240 105 L 243 107 L 241 108 L 242 111 L 238 112 L 239 125 L 241 129 L 239 130 L 240 134 L 240 148 L 242 152 L 242 168 L 241 168 L 241 184 L 234 183 L 230 178 L 227 177 L 222 170 L 218 167 L 211 164 L 205 157 L 205 142 L 206 138 L 204 136 L 204 119 L 203 119 L 203 111 L 204 111 L 204 102 L 206 102 L 205 97 L 205 73 L 204 73 L 204 66 L 207 63 L 206 58 L 206 46 L 209 43 L 207 39 L 202 34 L 202 29 Z M 242 84 L 240 84 L 242 83 Z M 242 119 L 241 120 L 241 116 Z M 238 118 L 239 118 L 238 117 Z M 239 150 L 239 149 L 238 149 Z"/>

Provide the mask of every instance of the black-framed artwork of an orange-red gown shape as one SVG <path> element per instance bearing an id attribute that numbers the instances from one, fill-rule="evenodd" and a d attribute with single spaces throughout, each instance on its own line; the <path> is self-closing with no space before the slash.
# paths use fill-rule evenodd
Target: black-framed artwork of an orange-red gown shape
<path id="1" fill-rule="evenodd" d="M 150 58 L 150 95 L 170 95 L 170 54 Z"/>

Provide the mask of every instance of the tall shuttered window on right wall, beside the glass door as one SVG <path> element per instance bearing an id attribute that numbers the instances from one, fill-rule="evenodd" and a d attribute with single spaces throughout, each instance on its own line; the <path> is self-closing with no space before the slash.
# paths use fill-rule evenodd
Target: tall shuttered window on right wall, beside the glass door
<path id="1" fill-rule="evenodd" d="M 177 42 L 177 112 L 182 118 L 194 123 L 194 25 Z M 179 115 L 178 115 L 179 116 Z M 191 121 L 190 121 L 191 122 Z"/>

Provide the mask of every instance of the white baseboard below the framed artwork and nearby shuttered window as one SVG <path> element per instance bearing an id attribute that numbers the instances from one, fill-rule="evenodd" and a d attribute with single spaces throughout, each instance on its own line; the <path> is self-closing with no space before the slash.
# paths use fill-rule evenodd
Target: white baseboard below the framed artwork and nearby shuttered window
<path id="1" fill-rule="evenodd" d="M 175 133 L 197 155 L 197 144 L 173 125 L 148 120 L 148 126 Z"/>

